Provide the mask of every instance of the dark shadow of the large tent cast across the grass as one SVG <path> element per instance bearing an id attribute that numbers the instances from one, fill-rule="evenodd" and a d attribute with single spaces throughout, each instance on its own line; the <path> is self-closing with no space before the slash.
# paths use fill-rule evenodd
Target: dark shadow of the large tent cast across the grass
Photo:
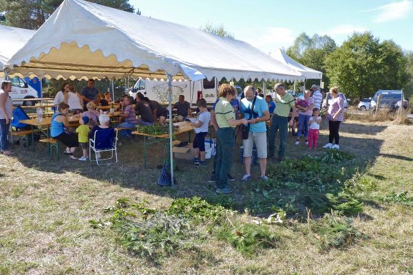
<path id="1" fill-rule="evenodd" d="M 365 126 L 359 124 L 343 124 L 341 131 L 348 133 L 352 131 L 352 128 L 357 127 L 364 129 L 368 133 L 379 133 L 383 131 L 383 126 Z M 325 129 L 325 125 L 324 125 Z M 179 137 L 178 137 L 179 138 Z M 180 140 L 187 140 L 187 136 L 183 136 Z M 319 144 L 327 143 L 328 135 L 326 131 L 322 131 L 319 137 Z M 278 135 L 275 140 L 276 145 L 279 144 Z M 286 155 L 290 159 L 300 159 L 303 155 L 321 155 L 323 150 L 321 146 L 317 148 L 317 151 L 310 151 L 307 146 L 300 144 L 294 145 L 295 138 L 288 135 Z M 353 173 L 354 168 L 363 170 L 368 162 L 374 162 L 374 159 L 380 155 L 380 147 L 383 140 L 377 138 L 357 138 L 357 137 L 342 137 L 341 146 L 344 151 L 354 153 L 356 158 L 352 164 L 344 166 L 348 171 L 348 174 Z M 36 151 L 28 151 L 25 148 L 17 148 L 14 156 L 19 159 L 21 164 L 28 168 L 34 168 L 40 171 L 48 173 L 56 173 L 63 176 L 65 173 L 76 173 L 85 177 L 87 180 L 106 181 L 110 184 L 116 184 L 124 188 L 133 188 L 141 190 L 149 194 L 158 195 L 162 197 L 204 197 L 209 201 L 213 201 L 218 196 L 215 194 L 214 184 L 208 182 L 211 176 L 213 159 L 208 160 L 207 166 L 194 167 L 191 161 L 177 159 L 178 171 L 176 172 L 176 178 L 178 185 L 175 188 L 161 188 L 156 184 L 156 179 L 160 173 L 160 170 L 156 166 L 161 165 L 164 159 L 165 148 L 163 144 L 155 144 L 149 151 L 149 157 L 151 162 L 149 168 L 143 168 L 143 151 L 142 151 L 142 138 L 134 137 L 131 140 L 123 141 L 123 145 L 118 148 L 119 163 L 112 164 L 110 166 L 96 166 L 94 162 L 80 162 L 78 160 L 72 160 L 65 156 L 60 162 L 56 160 L 50 161 L 47 158 L 47 150 L 43 144 L 36 143 Z M 238 146 L 240 142 L 238 142 Z M 237 147 L 236 147 L 237 148 Z M 80 150 L 76 152 L 80 155 Z M 259 168 L 253 166 L 251 168 L 253 174 L 253 181 L 244 183 L 240 181 L 242 175 L 244 175 L 244 167 L 238 161 L 238 150 L 235 149 L 235 157 L 233 170 L 231 174 L 237 178 L 236 181 L 231 182 L 234 192 L 229 196 L 231 199 L 227 201 L 228 206 L 235 208 L 235 210 L 243 211 L 246 208 L 246 201 L 250 200 L 250 192 L 255 186 L 262 185 L 259 182 Z M 278 164 L 278 162 L 269 160 L 268 166 Z M 331 169 L 336 173 L 340 173 L 343 166 L 331 164 Z M 281 173 L 282 171 L 280 171 Z M 67 175 L 67 176 L 70 176 Z M 283 187 L 285 188 L 285 186 Z M 279 192 L 280 194 L 288 194 L 293 197 L 297 190 L 294 188 L 277 190 L 277 188 L 271 189 L 272 192 Z M 331 190 L 321 190 L 319 195 L 321 197 L 326 195 L 326 192 L 332 192 Z M 338 189 L 337 189 L 338 192 Z M 265 195 L 265 192 L 264 192 Z M 337 194 L 336 194 L 337 195 Z M 310 198 L 311 199 L 311 198 Z M 302 202 L 301 202 L 302 203 Z M 306 205 L 300 205 L 300 214 L 305 214 L 303 209 Z M 256 214 L 266 215 L 267 211 L 258 211 Z"/>

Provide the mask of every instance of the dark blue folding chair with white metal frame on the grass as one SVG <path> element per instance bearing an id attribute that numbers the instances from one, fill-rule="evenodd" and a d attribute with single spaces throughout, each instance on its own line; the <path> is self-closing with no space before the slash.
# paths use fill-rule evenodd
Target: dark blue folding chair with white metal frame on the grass
<path id="1" fill-rule="evenodd" d="M 115 164 L 118 162 L 118 148 L 116 144 L 118 142 L 118 130 L 114 128 L 100 129 L 94 133 L 94 138 L 89 139 L 89 160 L 96 160 L 96 164 L 99 161 L 113 159 L 114 155 L 116 162 L 109 162 L 105 164 Z M 95 159 L 92 159 L 92 151 L 95 153 Z M 111 157 L 102 159 L 100 158 L 100 153 L 110 151 L 112 153 Z M 114 153 L 115 152 L 115 153 Z"/>

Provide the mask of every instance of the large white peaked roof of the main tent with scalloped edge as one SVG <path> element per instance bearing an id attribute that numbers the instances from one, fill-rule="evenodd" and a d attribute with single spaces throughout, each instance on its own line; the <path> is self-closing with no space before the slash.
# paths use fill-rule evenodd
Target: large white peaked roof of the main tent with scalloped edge
<path id="1" fill-rule="evenodd" d="M 52 78 L 302 78 L 243 41 L 83 0 L 63 1 L 13 66 L 12 74 Z"/>

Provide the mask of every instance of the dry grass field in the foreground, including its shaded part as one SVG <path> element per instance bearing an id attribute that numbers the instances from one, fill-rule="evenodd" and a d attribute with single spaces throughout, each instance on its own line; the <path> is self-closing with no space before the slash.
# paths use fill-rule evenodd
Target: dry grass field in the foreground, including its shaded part
<path id="1" fill-rule="evenodd" d="M 271 162 L 269 184 L 258 181 L 253 166 L 256 181 L 235 181 L 231 196 L 215 195 L 207 182 L 211 162 L 195 168 L 178 161 L 178 186 L 158 187 L 164 148 L 153 146 L 144 169 L 139 138 L 123 141 L 112 166 L 51 162 L 44 146 L 17 147 L 13 157 L 0 156 L 0 274 L 413 274 L 412 131 L 392 122 L 346 121 L 340 143 L 354 159 L 321 160 L 321 146 L 311 152 L 288 137 L 293 161 Z M 326 140 L 323 130 L 319 144 Z M 295 177 L 282 174 L 296 171 L 295 164 L 302 166 Z M 240 179 L 243 171 L 236 162 L 232 174 Z M 337 199 L 341 190 L 348 197 L 329 204 L 327 194 Z M 195 196 L 211 204 L 176 201 Z M 146 214 L 116 216 L 132 209 L 119 203 L 103 211 L 120 198 Z M 354 210 L 352 199 L 362 210 Z M 282 225 L 257 225 L 280 209 Z M 123 234 L 131 225 L 140 230 L 139 243 Z M 153 239 L 158 248 L 148 244 Z M 162 245 L 172 249 L 164 253 Z"/>

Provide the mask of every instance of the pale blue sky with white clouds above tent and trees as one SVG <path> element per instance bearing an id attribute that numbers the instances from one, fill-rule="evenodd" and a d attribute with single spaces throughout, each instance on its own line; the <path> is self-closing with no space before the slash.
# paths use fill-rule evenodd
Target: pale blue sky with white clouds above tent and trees
<path id="1" fill-rule="evenodd" d="M 339 45 L 370 31 L 413 50 L 413 0 L 235 1 L 129 0 L 143 16 L 200 28 L 224 25 L 235 39 L 264 52 L 288 47 L 301 32 L 328 34 Z M 165 30 L 167 32 L 167 30 Z"/>

